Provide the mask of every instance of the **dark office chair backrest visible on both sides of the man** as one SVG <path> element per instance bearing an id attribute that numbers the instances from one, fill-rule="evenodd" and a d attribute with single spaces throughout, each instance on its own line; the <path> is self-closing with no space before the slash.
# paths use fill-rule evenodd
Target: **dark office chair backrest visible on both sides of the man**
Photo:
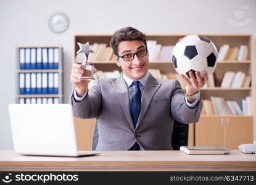
<path id="1" fill-rule="evenodd" d="M 173 150 L 180 150 L 181 146 L 188 146 L 188 124 L 183 124 L 178 121 L 173 123 L 173 134 L 171 135 L 171 145 Z M 95 123 L 93 134 L 93 150 L 96 149 L 99 139 L 99 133 L 97 128 L 97 121 Z"/>

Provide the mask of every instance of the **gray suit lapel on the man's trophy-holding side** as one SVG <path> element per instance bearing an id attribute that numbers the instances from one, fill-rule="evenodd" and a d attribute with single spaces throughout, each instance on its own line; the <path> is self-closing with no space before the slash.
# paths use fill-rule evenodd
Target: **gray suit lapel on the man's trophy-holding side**
<path id="1" fill-rule="evenodd" d="M 128 94 L 128 88 L 126 86 L 125 80 L 123 80 L 123 75 L 120 75 L 117 80 L 112 81 L 112 85 L 117 93 L 118 101 L 123 109 L 123 113 L 125 113 L 125 117 L 128 120 L 131 129 L 134 130 L 133 120 L 131 120 L 130 114 L 130 100 Z"/>

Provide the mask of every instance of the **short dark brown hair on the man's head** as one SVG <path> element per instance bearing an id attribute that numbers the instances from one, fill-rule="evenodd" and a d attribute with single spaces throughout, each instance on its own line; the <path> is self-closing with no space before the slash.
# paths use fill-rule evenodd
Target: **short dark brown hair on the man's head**
<path id="1" fill-rule="evenodd" d="M 115 31 L 114 35 L 110 40 L 110 46 L 113 49 L 115 55 L 118 55 L 118 45 L 121 41 L 143 41 L 147 49 L 146 35 L 139 30 L 132 27 L 121 28 Z"/>

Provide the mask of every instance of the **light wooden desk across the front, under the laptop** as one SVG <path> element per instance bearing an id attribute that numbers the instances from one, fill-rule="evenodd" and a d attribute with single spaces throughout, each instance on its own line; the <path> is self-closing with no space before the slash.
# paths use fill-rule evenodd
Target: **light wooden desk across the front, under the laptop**
<path id="1" fill-rule="evenodd" d="M 91 157 L 38 157 L 0 150 L 0 171 L 256 171 L 256 155 L 180 151 L 101 151 Z"/>

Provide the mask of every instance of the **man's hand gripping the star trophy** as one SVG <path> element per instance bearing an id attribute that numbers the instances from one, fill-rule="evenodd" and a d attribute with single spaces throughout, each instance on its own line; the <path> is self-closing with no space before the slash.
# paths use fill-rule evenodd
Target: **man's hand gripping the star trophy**
<path id="1" fill-rule="evenodd" d="M 94 68 L 94 73 L 97 73 L 96 68 Z M 88 89 L 89 81 L 76 79 L 76 78 L 81 76 L 90 76 L 90 75 L 91 75 L 91 72 L 89 72 L 88 70 L 85 70 L 85 68 L 83 68 L 83 65 L 73 64 L 71 75 L 70 75 L 70 81 L 75 85 L 76 95 L 78 97 L 82 97 L 85 91 Z"/>

